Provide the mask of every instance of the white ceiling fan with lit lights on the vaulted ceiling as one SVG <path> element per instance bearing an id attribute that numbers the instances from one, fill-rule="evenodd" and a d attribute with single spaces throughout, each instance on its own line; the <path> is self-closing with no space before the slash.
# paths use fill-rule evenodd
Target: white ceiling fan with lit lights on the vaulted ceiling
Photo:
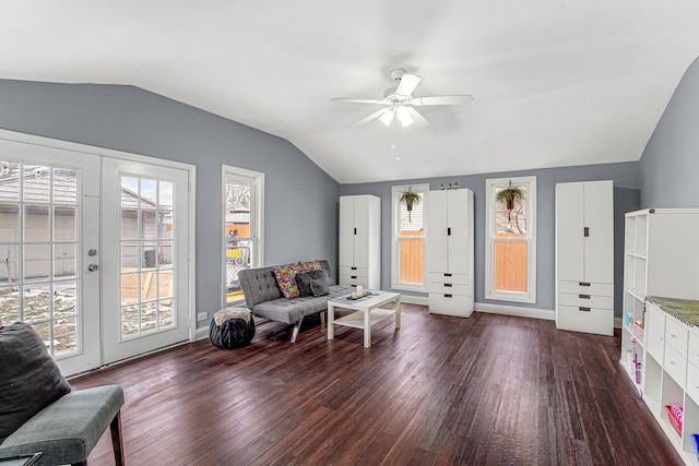
<path id="1" fill-rule="evenodd" d="M 417 74 L 406 73 L 402 68 L 391 71 L 391 77 L 395 81 L 395 87 L 389 87 L 383 92 L 380 100 L 370 98 L 331 98 L 332 101 L 343 101 L 348 104 L 376 104 L 386 107 L 357 121 L 355 124 L 364 124 L 377 118 L 387 127 L 391 124 L 393 118 L 401 122 L 403 128 L 415 123 L 422 128 L 429 124 L 414 107 L 427 105 L 461 105 L 473 99 L 470 94 L 465 95 L 442 95 L 430 97 L 413 97 L 413 92 L 419 84 L 422 77 Z"/>

